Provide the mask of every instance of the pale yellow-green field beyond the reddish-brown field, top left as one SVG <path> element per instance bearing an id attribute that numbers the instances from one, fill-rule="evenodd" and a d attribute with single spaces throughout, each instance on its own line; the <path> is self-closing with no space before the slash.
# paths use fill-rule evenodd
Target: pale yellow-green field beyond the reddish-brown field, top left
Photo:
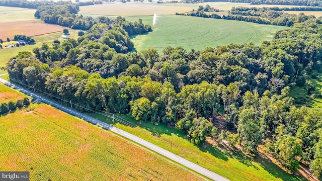
<path id="1" fill-rule="evenodd" d="M 0 24 L 9 23 L 9 22 L 19 22 L 19 21 L 28 21 L 34 20 L 36 10 L 26 9 L 26 8 L 13 8 L 13 7 L 3 7 L 0 6 Z M 1 29 L 5 28 L 0 26 Z M 0 29 L 0 30 L 1 30 Z M 1 36 L 1 34 L 0 34 Z M 7 39 L 7 37 L 6 37 Z"/>

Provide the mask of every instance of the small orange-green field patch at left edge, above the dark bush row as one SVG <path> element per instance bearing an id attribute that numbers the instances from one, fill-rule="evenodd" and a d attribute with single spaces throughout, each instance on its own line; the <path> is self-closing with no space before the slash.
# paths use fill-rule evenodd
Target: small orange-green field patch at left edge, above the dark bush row
<path id="1" fill-rule="evenodd" d="M 9 103 L 10 101 L 16 102 L 18 100 L 23 100 L 25 97 L 27 96 L 0 83 L 0 103 Z"/>

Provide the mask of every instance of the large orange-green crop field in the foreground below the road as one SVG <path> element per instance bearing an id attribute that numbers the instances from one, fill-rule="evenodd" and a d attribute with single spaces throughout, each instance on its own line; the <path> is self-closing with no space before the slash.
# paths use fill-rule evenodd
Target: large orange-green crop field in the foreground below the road
<path id="1" fill-rule="evenodd" d="M 201 180 L 47 105 L 0 117 L 0 133 L 0 170 L 30 171 L 30 180 Z"/>

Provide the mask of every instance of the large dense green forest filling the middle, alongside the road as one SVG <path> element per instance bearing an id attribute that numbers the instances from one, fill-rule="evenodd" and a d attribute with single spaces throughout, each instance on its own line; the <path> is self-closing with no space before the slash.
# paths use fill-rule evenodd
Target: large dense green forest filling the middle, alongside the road
<path id="1" fill-rule="evenodd" d="M 321 70 L 320 20 L 306 17 L 260 46 L 189 52 L 180 47 L 128 52 L 133 43 L 118 23 L 126 21 L 113 21 L 93 25 L 77 40 L 43 44 L 34 56 L 20 52 L 8 63 L 10 79 L 71 101 L 80 111 L 173 125 L 197 145 L 210 136 L 256 154 L 265 144 L 291 172 L 301 161 L 322 179 L 322 112 L 298 106 L 302 100 L 289 94 L 294 86 L 316 92 L 310 78 Z M 216 116 L 232 132 L 217 133 Z"/>

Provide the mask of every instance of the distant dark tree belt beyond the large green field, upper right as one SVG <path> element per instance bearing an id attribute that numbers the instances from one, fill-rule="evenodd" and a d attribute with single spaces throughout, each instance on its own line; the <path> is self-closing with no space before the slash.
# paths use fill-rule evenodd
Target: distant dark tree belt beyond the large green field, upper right
<path id="1" fill-rule="evenodd" d="M 310 7 L 304 7 L 303 9 L 310 9 Z M 294 23 L 301 23 L 313 16 L 306 16 L 303 13 L 299 15 L 288 14 L 284 12 L 285 8 L 246 8 L 246 7 L 232 7 L 228 15 L 218 15 L 209 5 L 205 7 L 199 6 L 197 11 L 192 11 L 191 13 L 176 13 L 176 15 L 186 15 L 186 16 L 197 16 L 203 18 L 215 18 L 223 20 L 237 20 L 246 21 L 266 25 L 278 25 L 278 26 L 292 26 Z M 292 9 L 292 8 L 289 8 Z M 297 8 L 294 8 L 297 10 Z M 320 8 L 313 8 L 319 10 Z M 211 11 L 210 11 L 211 10 Z M 311 9 L 312 10 L 312 9 Z"/>

